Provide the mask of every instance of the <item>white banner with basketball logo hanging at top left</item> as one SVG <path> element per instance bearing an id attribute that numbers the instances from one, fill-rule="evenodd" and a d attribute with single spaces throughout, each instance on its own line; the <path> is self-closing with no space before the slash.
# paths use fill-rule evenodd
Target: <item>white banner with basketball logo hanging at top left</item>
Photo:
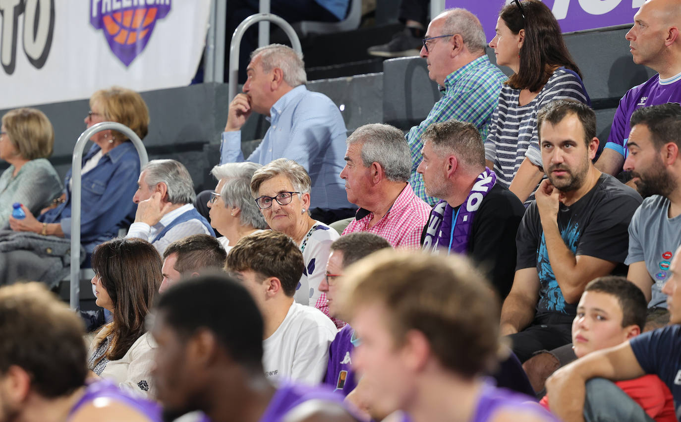
<path id="1" fill-rule="evenodd" d="M 189 85 L 210 0 L 0 0 L 0 109 Z"/>

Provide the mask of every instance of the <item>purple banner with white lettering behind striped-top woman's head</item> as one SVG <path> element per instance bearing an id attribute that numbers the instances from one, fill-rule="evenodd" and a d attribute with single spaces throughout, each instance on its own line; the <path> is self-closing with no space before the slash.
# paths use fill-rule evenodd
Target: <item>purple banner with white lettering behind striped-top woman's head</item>
<path id="1" fill-rule="evenodd" d="M 445 6 L 463 7 L 480 19 L 488 42 L 505 0 L 445 0 Z M 563 32 L 584 31 L 632 24 L 643 0 L 543 0 L 556 16 Z"/>

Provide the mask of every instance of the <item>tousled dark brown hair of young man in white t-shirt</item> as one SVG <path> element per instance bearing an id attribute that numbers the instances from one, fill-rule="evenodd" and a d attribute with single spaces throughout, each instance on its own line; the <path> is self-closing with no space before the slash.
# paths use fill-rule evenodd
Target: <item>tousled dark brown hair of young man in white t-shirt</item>
<path id="1" fill-rule="evenodd" d="M 266 230 L 242 237 L 227 254 L 226 271 L 254 271 L 261 277 L 276 277 L 285 295 L 293 297 L 305 265 L 293 239 L 282 232 Z"/>

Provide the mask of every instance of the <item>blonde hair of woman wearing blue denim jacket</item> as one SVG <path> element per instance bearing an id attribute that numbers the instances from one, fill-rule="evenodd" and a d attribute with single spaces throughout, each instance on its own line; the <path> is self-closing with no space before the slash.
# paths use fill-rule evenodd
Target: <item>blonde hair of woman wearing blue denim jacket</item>
<path id="1" fill-rule="evenodd" d="M 123 123 L 144 139 L 148 132 L 149 110 L 140 94 L 127 88 L 111 87 L 95 91 L 90 97 L 91 108 L 95 102 L 101 106 L 101 114 L 106 121 Z M 115 131 L 114 136 L 127 139 L 127 136 Z"/>

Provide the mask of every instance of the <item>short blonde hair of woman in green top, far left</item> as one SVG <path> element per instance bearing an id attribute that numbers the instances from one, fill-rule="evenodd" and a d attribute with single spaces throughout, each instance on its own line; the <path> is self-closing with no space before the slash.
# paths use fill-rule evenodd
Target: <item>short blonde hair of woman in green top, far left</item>
<path id="1" fill-rule="evenodd" d="M 21 157 L 47 158 L 54 148 L 54 129 L 44 112 L 36 108 L 15 108 L 2 117 L 5 132 Z"/>

